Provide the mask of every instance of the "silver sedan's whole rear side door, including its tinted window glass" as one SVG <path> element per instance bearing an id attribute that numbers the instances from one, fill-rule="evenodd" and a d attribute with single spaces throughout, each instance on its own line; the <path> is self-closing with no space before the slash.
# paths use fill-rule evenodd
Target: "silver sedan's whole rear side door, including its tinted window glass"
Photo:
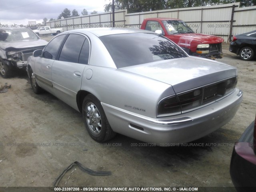
<path id="1" fill-rule="evenodd" d="M 78 109 L 76 94 L 81 89 L 82 73 L 88 64 L 90 43 L 86 36 L 70 33 L 52 66 L 54 94 Z"/>

